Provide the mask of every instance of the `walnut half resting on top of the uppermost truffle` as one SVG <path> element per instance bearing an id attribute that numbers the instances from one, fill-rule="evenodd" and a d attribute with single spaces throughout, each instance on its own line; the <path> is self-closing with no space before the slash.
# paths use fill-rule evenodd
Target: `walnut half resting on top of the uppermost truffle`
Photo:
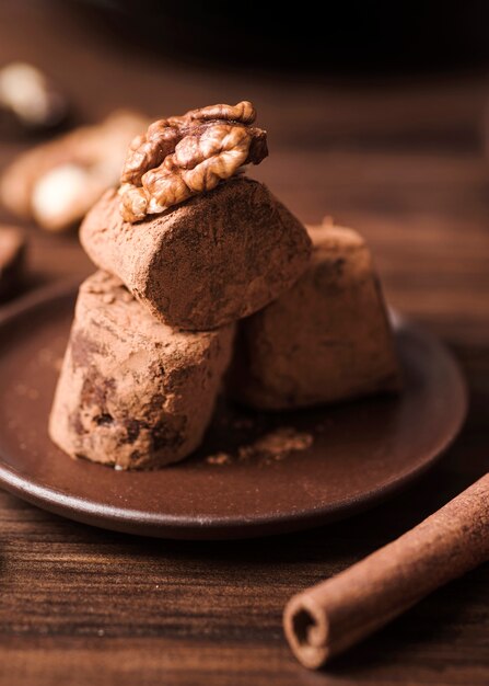
<path id="1" fill-rule="evenodd" d="M 133 139 L 120 178 L 121 213 L 140 221 L 214 188 L 268 155 L 267 134 L 252 126 L 251 102 L 210 105 L 159 119 Z"/>

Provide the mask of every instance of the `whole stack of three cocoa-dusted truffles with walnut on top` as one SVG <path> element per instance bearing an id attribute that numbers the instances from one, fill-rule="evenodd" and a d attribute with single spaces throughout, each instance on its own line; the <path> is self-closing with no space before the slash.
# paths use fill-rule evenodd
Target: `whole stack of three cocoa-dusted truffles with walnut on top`
<path id="1" fill-rule="evenodd" d="M 85 217 L 101 271 L 80 288 L 50 418 L 69 455 L 120 469 L 183 459 L 230 362 L 228 392 L 261 410 L 398 388 L 369 249 L 350 229 L 310 236 L 238 174 L 267 155 L 254 119 L 241 102 L 155 122 Z"/>

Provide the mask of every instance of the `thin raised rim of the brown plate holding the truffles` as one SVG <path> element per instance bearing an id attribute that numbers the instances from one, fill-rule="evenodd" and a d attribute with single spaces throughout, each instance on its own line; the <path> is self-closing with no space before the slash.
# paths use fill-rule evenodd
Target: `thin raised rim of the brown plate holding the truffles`
<path id="1" fill-rule="evenodd" d="M 49 300 L 63 300 L 74 298 L 80 279 L 69 279 L 21 296 L 13 302 L 2 306 L 0 310 L 0 333 L 3 327 L 9 325 L 16 319 L 26 315 L 30 310 L 46 305 Z M 406 488 L 416 481 L 424 472 L 434 467 L 443 457 L 445 451 L 458 436 L 468 412 L 468 388 L 465 376 L 452 352 L 434 334 L 410 317 L 391 310 L 391 317 L 396 322 L 397 329 L 409 329 L 416 335 L 428 341 L 438 348 L 445 362 L 452 367 L 454 378 L 458 386 L 457 401 L 458 412 L 456 421 L 453 422 L 451 432 L 443 442 L 443 446 L 435 450 L 428 459 L 392 478 L 380 487 L 363 491 L 359 495 L 349 496 L 338 501 L 307 507 L 289 513 L 276 513 L 257 515 L 256 517 L 243 518 L 234 515 L 216 515 L 194 517 L 191 523 L 188 515 L 182 514 L 158 514 L 143 510 L 118 507 L 115 505 L 100 504 L 80 495 L 66 494 L 55 487 L 43 483 L 33 483 L 20 472 L 7 464 L 0 451 L 0 488 L 13 495 L 34 504 L 42 510 L 49 511 L 75 522 L 81 522 L 101 529 L 123 531 L 131 535 L 148 536 L 156 538 L 178 538 L 190 540 L 218 540 L 253 538 L 264 535 L 283 534 L 311 528 L 322 524 L 327 524 L 340 519 L 348 514 L 354 515 L 358 512 L 368 510 L 395 492 Z M 101 466 L 101 468 L 104 468 Z M 93 521 L 104 519 L 104 524 Z M 287 527 L 284 527 L 287 524 Z M 141 530 L 144 527 L 144 530 Z M 148 528 L 149 527 L 149 528 Z M 132 530 L 131 530 L 132 529 Z M 198 529 L 198 535 L 196 530 Z"/>

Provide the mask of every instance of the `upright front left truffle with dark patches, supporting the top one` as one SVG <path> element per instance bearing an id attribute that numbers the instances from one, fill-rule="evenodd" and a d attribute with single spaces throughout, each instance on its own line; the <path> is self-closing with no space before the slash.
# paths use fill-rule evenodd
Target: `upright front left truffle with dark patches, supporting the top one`
<path id="1" fill-rule="evenodd" d="M 49 421 L 72 457 L 154 468 L 199 445 L 228 366 L 233 327 L 182 332 L 151 317 L 114 276 L 81 286 Z"/>

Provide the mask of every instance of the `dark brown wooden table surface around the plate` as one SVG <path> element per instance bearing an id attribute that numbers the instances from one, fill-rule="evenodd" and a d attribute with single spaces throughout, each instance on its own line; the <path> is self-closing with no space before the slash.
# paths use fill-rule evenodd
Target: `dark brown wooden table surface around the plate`
<path id="1" fill-rule="evenodd" d="M 322 673 L 293 660 L 281 629 L 293 593 L 392 540 L 488 470 L 485 80 L 346 85 L 191 69 L 112 43 L 61 3 L 3 2 L 0 64 L 19 58 L 57 77 L 89 121 L 121 105 L 165 115 L 254 100 L 271 148 L 256 176 L 304 221 L 333 215 L 368 237 L 389 301 L 458 356 L 471 408 L 445 459 L 416 485 L 368 514 L 292 536 L 149 540 L 0 493 L 1 685 L 489 684 L 487 564 Z M 0 164 L 18 149 L 2 142 Z M 90 272 L 75 236 L 28 235 L 31 287 Z"/>

